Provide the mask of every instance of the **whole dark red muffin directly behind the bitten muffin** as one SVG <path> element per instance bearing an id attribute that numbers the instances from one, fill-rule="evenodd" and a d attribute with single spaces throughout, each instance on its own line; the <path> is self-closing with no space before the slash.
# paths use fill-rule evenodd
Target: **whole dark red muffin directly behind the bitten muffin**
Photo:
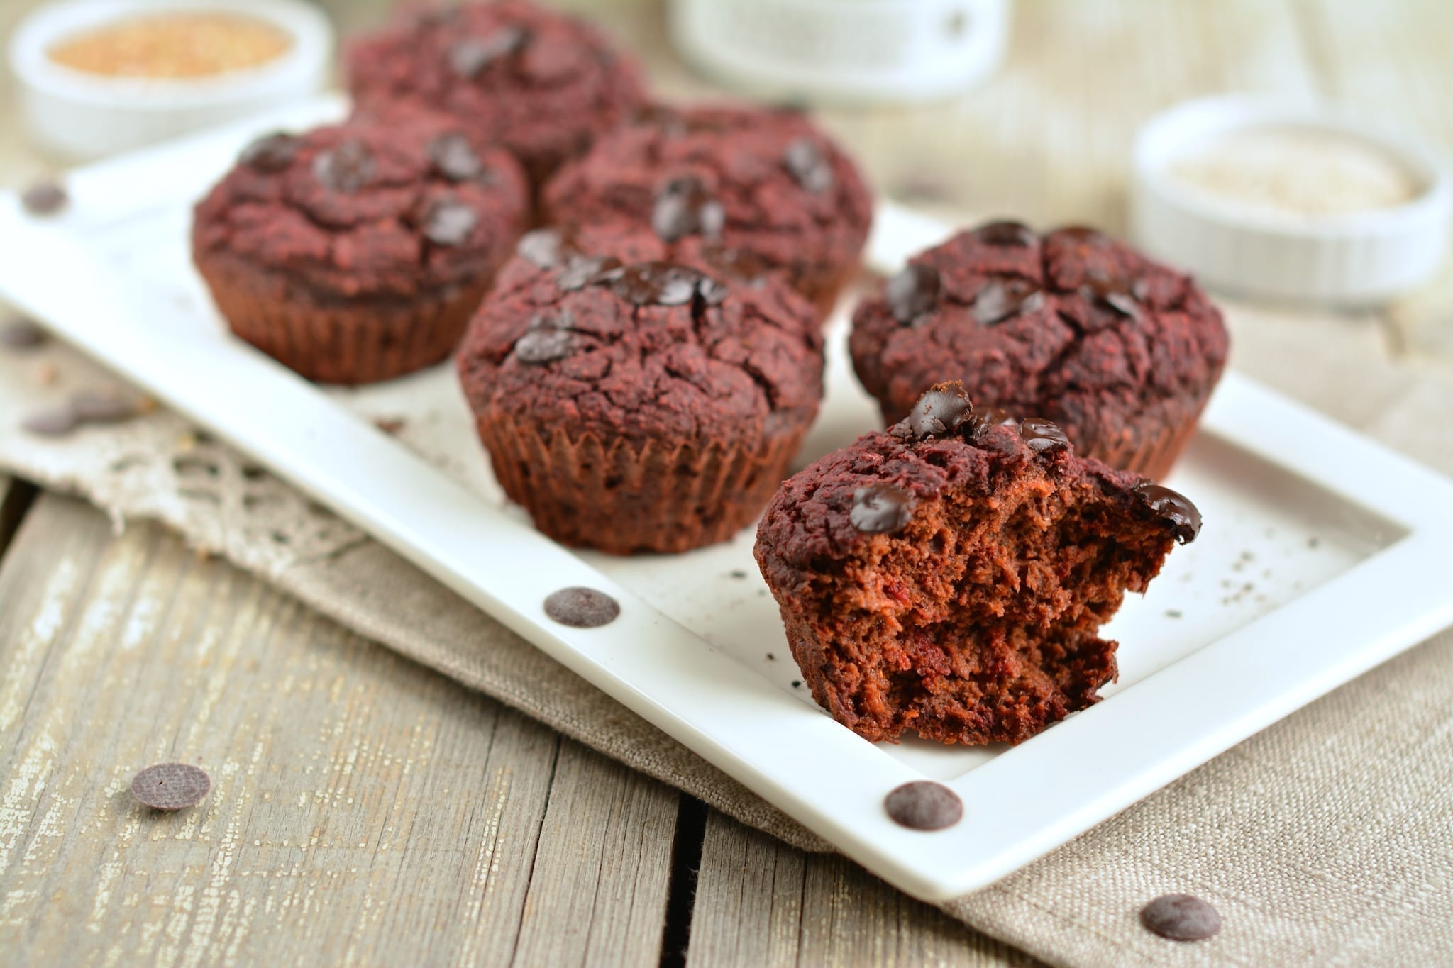
<path id="1" fill-rule="evenodd" d="M 981 408 L 1055 421 L 1085 456 L 1162 477 L 1226 361 L 1186 276 L 1094 229 L 992 222 L 915 255 L 853 315 L 853 367 L 886 422 L 963 380 Z"/>

